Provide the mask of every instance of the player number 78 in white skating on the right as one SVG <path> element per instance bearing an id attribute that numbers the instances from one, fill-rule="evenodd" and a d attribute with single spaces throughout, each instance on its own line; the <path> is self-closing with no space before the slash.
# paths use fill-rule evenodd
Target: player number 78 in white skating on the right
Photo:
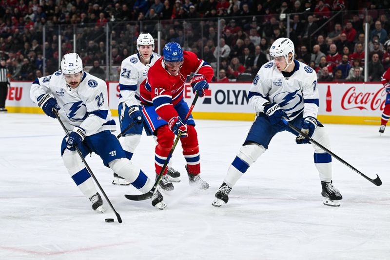
<path id="1" fill-rule="evenodd" d="M 219 207 L 228 202 L 234 184 L 268 149 L 276 133 L 289 131 L 297 136 L 283 123 L 283 118 L 330 149 L 328 134 L 316 119 L 319 101 L 315 72 L 306 64 L 294 60 L 294 44 L 288 38 L 275 40 L 270 48 L 270 56 L 273 60 L 264 64 L 257 72 L 248 95 L 257 113 L 254 123 L 215 194 L 213 206 Z M 295 141 L 298 144 L 309 143 L 301 135 Z M 314 144 L 313 148 L 324 204 L 340 206 L 342 196 L 332 184 L 331 155 Z"/>

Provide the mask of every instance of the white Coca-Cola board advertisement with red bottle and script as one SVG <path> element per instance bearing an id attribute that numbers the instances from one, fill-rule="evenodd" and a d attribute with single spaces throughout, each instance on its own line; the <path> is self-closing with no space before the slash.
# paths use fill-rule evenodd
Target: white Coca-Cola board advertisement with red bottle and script
<path id="1" fill-rule="evenodd" d="M 382 84 L 320 83 L 319 115 L 380 117 L 386 91 Z"/>

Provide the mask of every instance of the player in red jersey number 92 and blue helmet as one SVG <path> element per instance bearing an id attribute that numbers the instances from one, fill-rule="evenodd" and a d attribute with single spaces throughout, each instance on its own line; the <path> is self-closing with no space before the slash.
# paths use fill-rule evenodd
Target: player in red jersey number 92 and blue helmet
<path id="1" fill-rule="evenodd" d="M 176 42 L 169 42 L 163 49 L 163 57 L 149 69 L 148 76 L 140 86 L 142 113 L 146 123 L 157 136 L 155 167 L 158 175 L 167 160 L 175 135 L 181 132 L 181 146 L 187 161 L 186 169 L 190 185 L 198 189 L 208 189 L 209 184 L 200 174 L 200 157 L 195 121 L 183 99 L 184 83 L 192 73 L 190 84 L 194 93 L 204 96 L 209 88 L 214 71 L 210 64 L 198 59 L 193 52 L 183 51 Z M 166 177 L 166 169 L 159 186 L 173 190 L 174 186 Z"/>

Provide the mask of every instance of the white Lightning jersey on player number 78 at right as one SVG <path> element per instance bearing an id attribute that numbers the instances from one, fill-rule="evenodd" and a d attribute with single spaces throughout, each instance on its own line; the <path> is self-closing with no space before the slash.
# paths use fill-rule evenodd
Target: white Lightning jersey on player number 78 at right
<path id="1" fill-rule="evenodd" d="M 256 112 L 264 112 L 266 102 L 279 104 L 290 120 L 303 111 L 303 118 L 317 118 L 317 75 L 308 65 L 294 60 L 292 73 L 278 71 L 274 60 L 264 64 L 257 72 L 248 97 Z"/>

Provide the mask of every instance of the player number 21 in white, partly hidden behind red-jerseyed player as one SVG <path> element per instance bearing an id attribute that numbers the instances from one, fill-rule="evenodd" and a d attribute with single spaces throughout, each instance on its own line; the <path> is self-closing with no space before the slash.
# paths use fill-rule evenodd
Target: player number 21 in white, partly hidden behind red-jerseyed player
<path id="1" fill-rule="evenodd" d="M 159 54 L 153 52 L 154 49 L 155 40 L 152 35 L 149 33 L 140 34 L 137 38 L 138 53 L 127 57 L 121 64 L 118 105 L 120 131 L 124 131 L 131 123 L 134 123 L 134 125 L 124 133 L 124 137 L 120 140 L 126 158 L 129 160 L 133 157 L 141 140 L 142 129 L 145 129 L 148 136 L 153 134 L 149 128 L 144 125 L 144 119 L 140 112 L 139 85 L 146 79 L 149 68 L 160 58 Z M 170 162 L 171 161 L 172 160 L 170 160 Z M 160 181 L 160 186 L 164 190 L 173 188 L 170 181 L 180 181 L 180 173 L 171 166 L 171 163 L 168 165 L 167 175 L 169 180 L 164 179 Z M 128 185 L 130 183 L 127 180 L 120 178 L 117 173 L 114 173 L 113 184 Z"/>

